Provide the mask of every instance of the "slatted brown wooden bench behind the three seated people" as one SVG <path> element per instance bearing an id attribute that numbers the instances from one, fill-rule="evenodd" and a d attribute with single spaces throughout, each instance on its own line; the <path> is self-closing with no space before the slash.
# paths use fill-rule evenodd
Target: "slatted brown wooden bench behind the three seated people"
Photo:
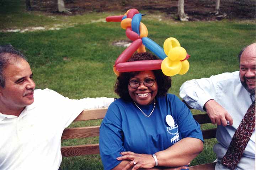
<path id="1" fill-rule="evenodd" d="M 86 121 L 103 119 L 107 112 L 107 108 L 89 109 L 84 110 L 74 121 Z M 194 119 L 199 124 L 210 123 L 210 118 L 207 114 L 193 115 Z M 216 129 L 203 130 L 203 138 L 215 138 Z M 62 134 L 62 140 L 75 139 L 75 138 L 86 138 L 95 137 L 100 134 L 100 126 L 89 126 L 81 128 L 66 128 Z M 99 154 L 99 144 L 86 144 L 78 146 L 63 146 L 61 147 L 63 157 L 74 157 L 81 155 Z M 216 163 L 209 163 L 203 165 L 190 166 L 190 170 L 214 170 Z"/>

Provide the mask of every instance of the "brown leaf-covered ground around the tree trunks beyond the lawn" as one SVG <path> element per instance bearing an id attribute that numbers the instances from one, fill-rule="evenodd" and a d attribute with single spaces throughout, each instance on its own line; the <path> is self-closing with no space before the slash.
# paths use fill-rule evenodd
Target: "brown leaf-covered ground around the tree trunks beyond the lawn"
<path id="1" fill-rule="evenodd" d="M 130 8 L 148 10 L 150 13 L 161 11 L 167 18 L 177 19 L 178 0 L 64 0 L 70 13 L 59 13 L 57 0 L 33 0 L 32 10 L 50 12 L 55 15 L 83 15 L 87 12 L 120 11 Z M 185 13 L 190 21 L 228 19 L 255 19 L 255 0 L 220 0 L 220 14 L 212 13 L 215 0 L 185 0 Z M 226 16 L 225 16 L 226 14 Z"/>

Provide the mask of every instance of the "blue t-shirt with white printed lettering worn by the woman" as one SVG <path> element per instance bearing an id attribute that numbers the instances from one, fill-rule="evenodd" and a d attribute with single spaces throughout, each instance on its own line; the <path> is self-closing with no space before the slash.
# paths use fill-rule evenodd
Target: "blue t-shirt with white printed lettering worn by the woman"
<path id="1" fill-rule="evenodd" d="M 138 106 L 147 115 L 154 107 L 153 103 Z M 174 119 L 173 126 L 166 123 L 167 114 Z M 109 106 L 100 127 L 101 160 L 104 169 L 113 169 L 121 163 L 116 159 L 121 156 L 120 152 L 154 154 L 185 137 L 203 141 L 200 125 L 177 96 L 156 97 L 156 106 L 150 117 L 146 117 L 133 102 L 118 99 Z"/>

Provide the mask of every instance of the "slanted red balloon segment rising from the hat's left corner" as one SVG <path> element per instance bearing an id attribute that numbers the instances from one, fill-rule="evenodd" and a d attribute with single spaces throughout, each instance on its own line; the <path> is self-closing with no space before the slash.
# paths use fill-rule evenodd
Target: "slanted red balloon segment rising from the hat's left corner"
<path id="1" fill-rule="evenodd" d="M 127 49 L 125 49 L 120 56 L 117 58 L 116 62 L 115 62 L 115 66 L 118 63 L 123 63 L 123 62 L 127 62 L 127 60 L 133 55 L 133 53 L 140 47 L 140 45 L 142 45 L 142 39 L 137 39 L 135 41 L 132 42 L 131 45 L 129 45 L 127 47 Z"/>

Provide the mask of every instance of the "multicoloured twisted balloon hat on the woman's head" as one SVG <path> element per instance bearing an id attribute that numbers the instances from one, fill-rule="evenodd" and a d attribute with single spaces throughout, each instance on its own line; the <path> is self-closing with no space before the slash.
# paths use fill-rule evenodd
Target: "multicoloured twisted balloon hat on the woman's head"
<path id="1" fill-rule="evenodd" d="M 187 59 L 190 55 L 181 47 L 180 42 L 175 38 L 167 38 L 164 42 L 164 49 L 148 38 L 148 29 L 140 22 L 142 14 L 137 9 L 130 9 L 124 15 L 106 17 L 107 22 L 121 22 L 121 27 L 126 30 L 126 36 L 132 40 L 127 49 L 117 58 L 113 70 L 116 75 L 121 72 L 134 72 L 145 70 L 158 70 L 167 76 L 185 74 L 189 69 Z M 146 52 L 147 47 L 161 60 L 132 61 L 127 60 L 137 50 L 138 53 Z"/>

